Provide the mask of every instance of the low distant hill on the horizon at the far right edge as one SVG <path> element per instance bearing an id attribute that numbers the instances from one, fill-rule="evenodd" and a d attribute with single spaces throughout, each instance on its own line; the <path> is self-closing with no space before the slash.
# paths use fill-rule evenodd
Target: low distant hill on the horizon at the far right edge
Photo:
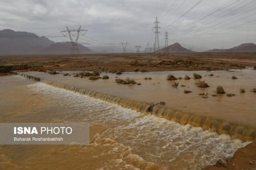
<path id="1" fill-rule="evenodd" d="M 243 43 L 239 46 L 235 46 L 229 49 L 214 49 L 205 51 L 207 53 L 253 53 L 256 52 L 256 44 Z"/>

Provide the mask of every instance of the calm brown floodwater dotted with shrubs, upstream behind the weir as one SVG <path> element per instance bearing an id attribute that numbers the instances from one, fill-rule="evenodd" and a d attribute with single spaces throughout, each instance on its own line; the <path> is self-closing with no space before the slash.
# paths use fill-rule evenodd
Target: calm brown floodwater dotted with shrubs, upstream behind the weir
<path id="1" fill-rule="evenodd" d="M 68 72 L 71 76 L 63 76 Z M 75 71 L 79 72 L 79 71 Z M 202 76 L 201 81 L 205 81 L 209 87 L 200 88 L 197 86 L 198 79 L 193 78 L 196 72 Z M 252 92 L 256 88 L 255 70 L 230 70 L 230 71 L 162 71 L 162 72 L 123 72 L 121 75 L 108 75 L 108 80 L 89 80 L 89 78 L 73 77 L 74 72 L 62 71 L 61 74 L 49 75 L 44 72 L 26 72 L 41 79 L 50 80 L 66 85 L 71 85 L 83 89 L 93 90 L 106 94 L 120 96 L 121 98 L 131 99 L 147 103 L 165 102 L 165 107 L 172 108 L 185 113 L 193 113 L 200 116 L 211 117 L 231 124 L 245 126 L 256 129 L 256 93 Z M 190 80 L 166 81 L 168 74 L 184 78 L 188 75 Z M 213 76 L 210 76 L 210 75 Z M 238 79 L 232 79 L 235 76 Z M 134 79 L 140 86 L 122 85 L 115 83 L 116 78 Z M 144 80 L 151 77 L 152 80 Z M 179 83 L 177 88 L 172 85 Z M 236 94 L 232 97 L 226 94 L 217 94 L 217 86 L 223 86 L 227 93 Z M 240 89 L 244 88 L 245 93 Z M 190 90 L 186 94 L 184 90 Z M 207 93 L 207 99 L 203 98 L 202 93 Z"/>

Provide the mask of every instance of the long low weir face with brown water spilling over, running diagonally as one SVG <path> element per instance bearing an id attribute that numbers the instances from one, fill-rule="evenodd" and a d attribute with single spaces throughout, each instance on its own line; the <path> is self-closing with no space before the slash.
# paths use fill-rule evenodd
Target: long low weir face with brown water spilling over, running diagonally
<path id="1" fill-rule="evenodd" d="M 38 77 L 26 75 L 24 72 L 13 72 L 18 76 L 25 77 L 27 79 L 32 79 L 38 82 L 42 82 L 57 88 L 74 91 L 80 94 L 89 95 L 92 98 L 100 99 L 106 102 L 118 104 L 124 108 L 129 108 L 136 110 L 141 113 L 153 114 L 160 118 L 165 118 L 168 120 L 173 120 L 180 124 L 186 125 L 189 124 L 194 127 L 201 127 L 204 130 L 215 131 L 219 134 L 228 134 L 232 137 L 246 140 L 246 141 L 256 141 L 256 131 L 247 127 L 229 124 L 221 120 L 213 119 L 206 116 L 195 115 L 191 113 L 184 113 L 172 108 L 155 106 L 145 102 L 138 102 L 134 100 L 120 98 L 119 96 L 105 94 L 101 92 L 96 92 L 92 90 L 82 89 L 75 86 L 65 85 L 57 83 L 54 81 L 49 81 L 41 79 Z"/>

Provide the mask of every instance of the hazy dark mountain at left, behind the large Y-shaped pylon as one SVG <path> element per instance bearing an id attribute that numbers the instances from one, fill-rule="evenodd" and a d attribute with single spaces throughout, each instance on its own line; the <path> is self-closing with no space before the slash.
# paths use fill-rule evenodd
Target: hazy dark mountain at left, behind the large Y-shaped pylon
<path id="1" fill-rule="evenodd" d="M 78 44 L 81 54 L 90 53 L 90 49 Z M 33 33 L 0 31 L 0 55 L 19 54 L 70 54 L 71 42 L 54 42 Z"/>

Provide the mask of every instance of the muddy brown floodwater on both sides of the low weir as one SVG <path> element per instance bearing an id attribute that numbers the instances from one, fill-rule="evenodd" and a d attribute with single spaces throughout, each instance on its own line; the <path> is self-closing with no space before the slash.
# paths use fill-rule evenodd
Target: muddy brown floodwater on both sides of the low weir
<path id="1" fill-rule="evenodd" d="M 249 92 L 255 85 L 252 70 L 215 71 L 214 77 L 204 77 L 210 72 L 198 73 L 210 88 L 199 89 L 195 86 L 196 80 L 191 79 L 177 81 L 186 87 L 174 89 L 171 82 L 165 81 L 167 72 L 118 76 L 135 78 L 141 86 L 118 85 L 114 83 L 114 74 L 109 75 L 109 80 L 96 81 L 62 74 L 27 74 L 141 101 L 164 101 L 168 107 L 218 115 L 250 126 L 252 121 L 255 123 L 256 94 Z M 193 73 L 178 71 L 175 74 L 179 77 Z M 232 75 L 238 79 L 231 80 Z M 152 77 L 152 80 L 143 80 L 144 77 Z M 213 94 L 219 84 L 237 95 L 232 98 L 209 96 L 208 99 L 198 95 L 201 92 Z M 248 92 L 240 94 L 241 87 Z M 184 94 L 187 88 L 193 93 Z M 0 78 L 0 108 L 0 122 L 5 123 L 90 123 L 90 144 L 0 145 L 0 169 L 201 169 L 221 158 L 231 157 L 249 143 L 20 76 Z"/>

